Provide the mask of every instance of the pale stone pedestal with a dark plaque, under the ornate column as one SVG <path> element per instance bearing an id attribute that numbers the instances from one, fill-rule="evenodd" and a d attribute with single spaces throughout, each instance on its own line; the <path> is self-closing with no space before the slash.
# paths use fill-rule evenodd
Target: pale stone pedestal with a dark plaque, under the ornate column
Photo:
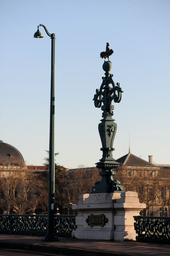
<path id="1" fill-rule="evenodd" d="M 135 240 L 133 216 L 146 207 L 139 203 L 136 192 L 80 195 L 73 210 L 78 212 L 72 237 L 79 239 Z"/>

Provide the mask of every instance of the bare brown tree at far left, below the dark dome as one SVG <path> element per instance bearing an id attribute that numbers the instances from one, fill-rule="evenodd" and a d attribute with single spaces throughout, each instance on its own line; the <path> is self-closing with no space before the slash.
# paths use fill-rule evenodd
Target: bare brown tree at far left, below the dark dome
<path id="1" fill-rule="evenodd" d="M 24 169 L 8 171 L 0 177 L 1 206 L 9 213 L 33 213 L 43 208 L 44 182 L 38 174 Z"/>

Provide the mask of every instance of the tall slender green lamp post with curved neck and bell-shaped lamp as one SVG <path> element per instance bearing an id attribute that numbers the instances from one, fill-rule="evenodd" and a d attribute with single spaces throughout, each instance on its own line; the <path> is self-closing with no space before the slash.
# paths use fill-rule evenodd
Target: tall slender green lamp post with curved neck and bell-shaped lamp
<path id="1" fill-rule="evenodd" d="M 47 234 L 43 241 L 59 241 L 55 236 L 54 218 L 55 218 L 55 153 L 54 153 L 54 114 L 55 114 L 55 94 L 54 94 L 54 68 L 55 68 L 55 34 L 50 34 L 47 28 L 40 24 L 35 38 L 42 38 L 43 34 L 39 27 L 43 27 L 48 36 L 51 37 L 51 95 L 50 95 L 50 145 L 49 145 L 49 179 L 48 179 L 48 217 L 47 217 Z"/>

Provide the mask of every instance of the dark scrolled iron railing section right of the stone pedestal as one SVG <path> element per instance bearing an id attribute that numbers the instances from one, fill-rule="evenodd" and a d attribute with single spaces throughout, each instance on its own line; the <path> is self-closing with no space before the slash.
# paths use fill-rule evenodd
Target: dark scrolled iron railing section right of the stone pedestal
<path id="1" fill-rule="evenodd" d="M 170 218 L 133 216 L 137 241 L 170 242 Z"/>

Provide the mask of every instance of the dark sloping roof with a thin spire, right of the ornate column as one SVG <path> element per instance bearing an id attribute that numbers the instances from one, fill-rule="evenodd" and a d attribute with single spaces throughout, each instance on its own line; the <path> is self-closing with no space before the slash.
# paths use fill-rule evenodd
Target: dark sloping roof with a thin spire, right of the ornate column
<path id="1" fill-rule="evenodd" d="M 118 159 L 116 159 L 116 162 L 120 163 L 121 165 L 140 165 L 140 166 L 151 166 L 152 164 L 131 154 L 128 153 L 127 155 L 124 155 Z"/>

